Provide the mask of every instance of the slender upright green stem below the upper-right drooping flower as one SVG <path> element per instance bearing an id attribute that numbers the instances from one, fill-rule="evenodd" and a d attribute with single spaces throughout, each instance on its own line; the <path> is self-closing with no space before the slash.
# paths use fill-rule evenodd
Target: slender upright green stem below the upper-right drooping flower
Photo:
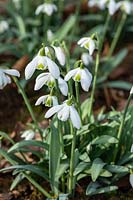
<path id="1" fill-rule="evenodd" d="M 94 94 L 95 94 L 95 90 L 96 90 L 96 82 L 97 82 L 97 75 L 98 75 L 98 68 L 99 68 L 99 59 L 100 59 L 100 53 L 98 52 L 96 55 L 95 72 L 94 72 L 92 92 L 91 92 L 91 97 L 90 97 L 90 106 L 89 106 L 89 111 L 88 111 L 89 119 L 92 114 L 92 106 L 93 106 L 93 101 L 94 101 Z"/>

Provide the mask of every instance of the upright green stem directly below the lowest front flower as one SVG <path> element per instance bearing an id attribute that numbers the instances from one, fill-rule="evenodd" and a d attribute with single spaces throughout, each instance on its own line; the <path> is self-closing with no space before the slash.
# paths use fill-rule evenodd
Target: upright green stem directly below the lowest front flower
<path id="1" fill-rule="evenodd" d="M 69 183 L 68 183 L 68 192 L 69 194 L 73 193 L 73 172 L 74 172 L 74 160 L 75 160 L 75 147 L 76 147 L 76 131 L 71 124 L 71 134 L 73 135 L 72 146 L 71 146 L 71 158 L 70 158 L 70 170 L 69 170 Z"/>

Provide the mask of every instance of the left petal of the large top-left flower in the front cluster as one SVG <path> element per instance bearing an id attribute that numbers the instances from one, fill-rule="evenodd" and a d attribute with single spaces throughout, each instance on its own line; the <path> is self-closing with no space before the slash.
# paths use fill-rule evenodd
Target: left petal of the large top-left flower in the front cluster
<path id="1" fill-rule="evenodd" d="M 26 66 L 25 68 L 25 79 L 28 80 L 32 77 L 37 66 L 37 56 Z"/>

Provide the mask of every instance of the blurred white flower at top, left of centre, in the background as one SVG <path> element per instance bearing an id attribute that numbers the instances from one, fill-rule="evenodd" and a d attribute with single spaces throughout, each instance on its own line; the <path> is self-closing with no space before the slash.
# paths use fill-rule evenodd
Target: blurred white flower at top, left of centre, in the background
<path id="1" fill-rule="evenodd" d="M 51 16 L 55 11 L 57 11 L 57 6 L 52 3 L 44 3 L 37 7 L 35 14 L 39 15 L 40 13 L 45 13 L 48 16 Z"/>

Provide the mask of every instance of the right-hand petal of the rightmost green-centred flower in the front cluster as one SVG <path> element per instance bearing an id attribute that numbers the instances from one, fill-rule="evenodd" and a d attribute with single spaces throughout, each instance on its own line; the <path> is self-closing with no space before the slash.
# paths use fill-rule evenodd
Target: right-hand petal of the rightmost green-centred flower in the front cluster
<path id="1" fill-rule="evenodd" d="M 81 86 L 84 91 L 88 92 L 89 87 L 92 81 L 92 75 L 91 73 L 86 69 L 82 70 L 82 76 L 81 76 Z"/>

